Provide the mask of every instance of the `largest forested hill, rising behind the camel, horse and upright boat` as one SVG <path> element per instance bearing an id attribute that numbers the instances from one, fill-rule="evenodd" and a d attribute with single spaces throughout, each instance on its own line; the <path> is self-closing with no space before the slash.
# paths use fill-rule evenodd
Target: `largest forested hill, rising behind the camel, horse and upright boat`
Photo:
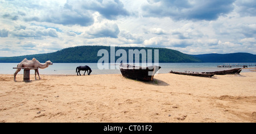
<path id="1" fill-rule="evenodd" d="M 18 56 L 18 57 L 2 57 L 0 58 L 0 62 L 20 62 L 24 58 L 31 60 L 32 58 L 36 58 L 40 62 L 45 62 L 51 60 L 53 63 L 79 63 L 79 62 L 98 62 L 102 56 L 97 56 L 98 51 L 101 49 L 105 49 L 109 52 L 109 62 L 110 62 L 110 47 L 106 46 L 80 46 L 80 47 L 72 47 L 65 48 L 61 51 L 53 52 L 53 53 L 45 53 L 39 55 L 27 55 L 27 56 Z M 154 50 L 159 50 L 159 62 L 201 62 L 199 58 L 193 57 L 191 55 L 187 55 L 181 53 L 179 51 L 175 51 L 172 49 L 166 48 L 144 48 L 144 47 L 115 47 L 115 52 L 118 49 L 123 49 L 127 53 L 127 57 L 129 57 L 129 49 L 145 49 L 148 52 L 148 49 L 152 50 L 152 61 L 154 62 Z M 113 55 L 113 54 L 112 54 Z M 122 56 L 122 55 L 121 55 Z M 115 57 L 117 60 L 119 57 Z"/>

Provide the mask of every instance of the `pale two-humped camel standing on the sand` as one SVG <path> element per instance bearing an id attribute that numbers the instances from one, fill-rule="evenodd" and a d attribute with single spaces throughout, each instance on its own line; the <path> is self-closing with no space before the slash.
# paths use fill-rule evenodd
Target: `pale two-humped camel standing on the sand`
<path id="1" fill-rule="evenodd" d="M 27 58 L 25 58 L 22 62 L 20 62 L 17 67 L 18 68 L 41 68 L 41 69 L 45 69 L 48 68 L 49 65 L 52 65 L 53 63 L 51 61 L 46 61 L 45 64 L 41 64 L 38 60 L 36 60 L 35 58 L 33 58 L 32 60 L 27 60 Z M 14 81 L 16 82 L 16 75 L 20 72 L 21 69 L 17 69 L 16 72 L 14 73 Z M 39 79 L 39 71 L 38 69 L 35 70 L 35 80 L 36 80 L 36 73 L 38 73 L 38 77 Z"/>

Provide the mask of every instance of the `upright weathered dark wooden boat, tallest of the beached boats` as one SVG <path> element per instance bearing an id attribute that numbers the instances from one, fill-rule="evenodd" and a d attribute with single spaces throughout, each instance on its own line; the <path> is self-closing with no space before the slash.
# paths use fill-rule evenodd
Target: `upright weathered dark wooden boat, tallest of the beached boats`
<path id="1" fill-rule="evenodd" d="M 160 66 L 134 66 L 128 64 L 121 64 L 119 66 L 123 76 L 138 79 L 140 81 L 153 81 L 156 72 L 161 68 Z"/>

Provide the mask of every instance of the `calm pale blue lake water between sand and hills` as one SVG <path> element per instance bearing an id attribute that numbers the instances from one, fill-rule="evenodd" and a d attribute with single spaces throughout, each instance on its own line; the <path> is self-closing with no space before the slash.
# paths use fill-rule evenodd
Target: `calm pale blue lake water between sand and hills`
<path id="1" fill-rule="evenodd" d="M 232 65 L 238 65 L 238 63 L 229 63 Z M 228 64 L 228 65 L 229 65 Z M 239 63 L 240 65 L 256 65 L 256 63 Z M 0 63 L 0 74 L 13 74 L 15 72 L 14 67 L 16 67 L 18 63 Z M 112 68 L 115 66 L 114 70 L 100 70 L 97 67 L 97 63 L 53 63 L 53 65 L 49 66 L 46 69 L 39 69 L 40 74 L 64 74 L 64 75 L 75 75 L 77 66 L 88 65 L 93 70 L 92 74 L 121 74 L 118 66 L 111 65 Z M 162 68 L 159 70 L 159 73 L 168 73 L 171 70 L 184 72 L 192 71 L 192 72 L 214 72 L 217 70 L 227 70 L 230 68 L 217 68 L 218 65 L 225 65 L 223 63 L 160 63 L 159 66 Z M 255 67 L 255 66 L 252 66 Z M 110 68 L 110 67 L 109 67 Z M 250 70 L 243 70 L 243 72 L 250 72 Z M 19 74 L 23 72 L 20 71 Z M 34 73 L 34 70 L 31 71 Z M 84 72 L 81 72 L 83 74 Z"/>

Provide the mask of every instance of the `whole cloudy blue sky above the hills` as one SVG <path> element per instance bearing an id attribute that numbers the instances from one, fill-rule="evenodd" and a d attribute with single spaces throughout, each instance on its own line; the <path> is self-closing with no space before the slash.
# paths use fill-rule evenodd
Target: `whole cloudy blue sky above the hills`
<path id="1" fill-rule="evenodd" d="M 0 0 L 0 57 L 81 45 L 256 54 L 256 0 Z"/>

